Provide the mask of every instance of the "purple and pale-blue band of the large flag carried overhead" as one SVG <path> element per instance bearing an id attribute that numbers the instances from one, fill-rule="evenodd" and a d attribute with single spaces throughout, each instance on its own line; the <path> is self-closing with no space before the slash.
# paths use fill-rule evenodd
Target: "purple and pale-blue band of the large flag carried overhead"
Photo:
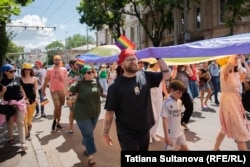
<path id="1" fill-rule="evenodd" d="M 137 50 L 136 55 L 142 58 L 185 58 L 185 57 L 212 57 L 230 54 L 250 53 L 250 33 L 233 35 L 227 37 L 206 39 L 192 43 L 186 43 L 165 47 L 149 47 Z M 111 63 L 118 60 L 118 55 L 101 57 L 85 53 L 78 58 L 85 62 Z"/>

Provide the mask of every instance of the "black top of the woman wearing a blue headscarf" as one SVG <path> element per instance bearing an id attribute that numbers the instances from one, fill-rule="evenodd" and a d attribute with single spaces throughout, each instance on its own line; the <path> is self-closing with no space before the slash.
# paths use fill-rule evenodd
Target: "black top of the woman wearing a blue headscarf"
<path id="1" fill-rule="evenodd" d="M 0 83 L 3 86 L 7 87 L 7 91 L 5 92 L 3 99 L 5 101 L 9 100 L 21 100 L 23 99 L 23 94 L 21 92 L 21 86 L 20 86 L 20 77 L 15 77 L 13 79 L 7 79 L 3 78 Z"/>

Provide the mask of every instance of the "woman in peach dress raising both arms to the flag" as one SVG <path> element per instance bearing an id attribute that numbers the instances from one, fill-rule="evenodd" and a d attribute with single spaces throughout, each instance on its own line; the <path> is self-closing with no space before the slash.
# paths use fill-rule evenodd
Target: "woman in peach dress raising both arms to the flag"
<path id="1" fill-rule="evenodd" d="M 240 74 L 238 61 L 244 56 L 233 55 L 220 73 L 221 97 L 219 118 L 221 128 L 216 137 L 214 150 L 219 150 L 225 136 L 235 140 L 238 150 L 247 150 L 246 142 L 250 140 L 250 130 L 247 127 L 245 109 L 240 96 Z"/>

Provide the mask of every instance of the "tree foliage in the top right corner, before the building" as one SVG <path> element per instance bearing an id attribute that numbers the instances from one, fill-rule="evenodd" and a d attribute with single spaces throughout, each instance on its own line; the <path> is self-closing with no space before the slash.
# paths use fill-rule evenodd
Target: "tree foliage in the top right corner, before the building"
<path id="1" fill-rule="evenodd" d="M 237 24 L 237 20 L 241 20 L 242 17 L 250 15 L 250 0 L 227 0 L 225 1 L 223 20 L 225 24 L 230 28 L 230 34 L 234 34 L 234 26 Z"/>

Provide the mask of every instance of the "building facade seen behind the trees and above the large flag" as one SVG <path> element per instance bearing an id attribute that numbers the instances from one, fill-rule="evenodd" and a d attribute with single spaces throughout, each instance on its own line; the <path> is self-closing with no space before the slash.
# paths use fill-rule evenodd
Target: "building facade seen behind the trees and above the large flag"
<path id="1" fill-rule="evenodd" d="M 231 29 L 223 21 L 224 5 L 225 0 L 201 0 L 200 4 L 190 3 L 186 16 L 183 11 L 177 11 L 175 19 L 177 20 L 177 31 L 169 33 L 166 30 L 161 46 L 174 45 L 175 35 L 177 36 L 177 44 L 230 35 Z M 131 10 L 131 5 L 127 5 L 125 10 Z M 124 29 L 125 35 L 136 44 L 137 49 L 153 46 L 134 16 L 125 16 Z M 237 20 L 233 27 L 233 34 L 248 32 L 250 32 L 250 17 Z M 114 42 L 107 27 L 96 32 L 97 46 L 114 44 Z"/>

